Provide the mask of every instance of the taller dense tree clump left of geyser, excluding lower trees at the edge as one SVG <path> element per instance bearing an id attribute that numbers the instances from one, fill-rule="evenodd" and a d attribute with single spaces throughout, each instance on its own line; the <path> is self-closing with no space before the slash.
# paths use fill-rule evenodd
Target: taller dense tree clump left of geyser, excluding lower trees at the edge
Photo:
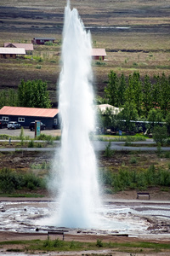
<path id="1" fill-rule="evenodd" d="M 39 80 L 21 80 L 18 87 L 18 101 L 20 107 L 51 108 L 47 90 L 47 83 Z"/>

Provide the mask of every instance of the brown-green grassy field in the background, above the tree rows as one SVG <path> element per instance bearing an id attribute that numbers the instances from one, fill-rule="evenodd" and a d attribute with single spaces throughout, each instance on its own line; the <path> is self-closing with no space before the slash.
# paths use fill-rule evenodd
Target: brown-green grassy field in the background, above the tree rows
<path id="1" fill-rule="evenodd" d="M 21 79 L 46 80 L 52 102 L 57 106 L 66 1 L 1 2 L 0 47 L 5 42 L 31 43 L 34 37 L 54 37 L 57 44 L 35 46 L 32 60 L 1 59 L 0 89 L 17 88 Z M 146 73 L 170 74 L 169 1 L 77 0 L 71 1 L 71 7 L 78 9 L 84 25 L 90 29 L 93 47 L 106 49 L 104 62 L 93 61 L 96 94 L 103 96 L 111 70 L 126 76 L 137 70 L 141 77 Z"/>

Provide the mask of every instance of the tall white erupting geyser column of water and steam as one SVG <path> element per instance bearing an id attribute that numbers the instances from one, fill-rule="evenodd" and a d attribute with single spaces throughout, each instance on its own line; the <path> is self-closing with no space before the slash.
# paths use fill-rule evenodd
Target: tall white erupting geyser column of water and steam
<path id="1" fill-rule="evenodd" d="M 97 226 L 99 185 L 94 149 L 89 133 L 94 130 L 91 36 L 77 9 L 65 7 L 62 69 L 59 76 L 59 113 L 62 121 L 58 226 Z"/>

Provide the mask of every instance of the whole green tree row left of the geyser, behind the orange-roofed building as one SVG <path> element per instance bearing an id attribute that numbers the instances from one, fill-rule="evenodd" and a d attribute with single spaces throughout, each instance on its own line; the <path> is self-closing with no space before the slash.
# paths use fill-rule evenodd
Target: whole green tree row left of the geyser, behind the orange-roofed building
<path id="1" fill-rule="evenodd" d="M 1 90 L 0 108 L 3 106 L 51 108 L 47 83 L 41 79 L 21 80 L 17 90 Z"/>

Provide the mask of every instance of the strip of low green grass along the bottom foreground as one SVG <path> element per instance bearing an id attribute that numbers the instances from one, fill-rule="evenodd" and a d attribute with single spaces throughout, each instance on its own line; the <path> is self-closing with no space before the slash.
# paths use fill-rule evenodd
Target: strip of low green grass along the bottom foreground
<path id="1" fill-rule="evenodd" d="M 30 241 L 1 241 L 1 247 L 6 247 L 7 252 L 14 253 L 49 253 L 49 252 L 75 252 L 76 254 L 81 251 L 87 251 L 86 255 L 106 255 L 103 251 L 108 251 L 109 254 L 129 253 L 135 256 L 136 253 L 151 253 L 159 255 L 158 253 L 168 253 L 170 246 L 167 242 L 150 242 L 150 241 L 61 241 L 55 240 L 30 240 Z M 89 252 L 88 252 L 89 251 Z M 94 253 L 90 253 L 94 252 Z M 84 255 L 84 254 L 82 254 Z M 117 254 L 116 254 L 117 255 Z M 121 254 L 118 254 L 121 255 Z M 167 255 L 167 254 L 166 254 Z"/>

